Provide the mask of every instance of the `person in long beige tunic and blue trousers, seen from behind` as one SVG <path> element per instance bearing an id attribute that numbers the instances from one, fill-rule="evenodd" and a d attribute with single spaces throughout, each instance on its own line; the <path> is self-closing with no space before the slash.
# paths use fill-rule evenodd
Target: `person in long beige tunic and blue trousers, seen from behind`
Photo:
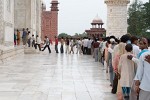
<path id="1" fill-rule="evenodd" d="M 118 73 L 120 74 L 120 86 L 122 87 L 124 100 L 129 100 L 129 94 L 135 76 L 134 62 L 127 58 L 128 55 L 132 55 L 132 45 L 127 44 L 125 50 L 127 52 L 120 57 Z"/>

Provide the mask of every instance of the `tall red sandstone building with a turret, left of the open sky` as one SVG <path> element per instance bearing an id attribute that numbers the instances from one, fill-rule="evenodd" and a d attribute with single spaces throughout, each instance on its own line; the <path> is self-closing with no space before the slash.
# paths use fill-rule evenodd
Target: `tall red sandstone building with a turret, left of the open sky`
<path id="1" fill-rule="evenodd" d="M 52 0 L 51 10 L 46 11 L 46 5 L 42 4 L 42 40 L 45 36 L 54 41 L 58 35 L 58 1 Z"/>

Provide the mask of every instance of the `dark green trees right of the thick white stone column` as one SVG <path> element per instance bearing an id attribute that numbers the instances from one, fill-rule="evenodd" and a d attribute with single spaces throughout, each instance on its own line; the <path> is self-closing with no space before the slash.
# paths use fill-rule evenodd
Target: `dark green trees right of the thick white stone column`
<path id="1" fill-rule="evenodd" d="M 150 3 L 134 2 L 128 9 L 128 33 L 150 38 Z"/>

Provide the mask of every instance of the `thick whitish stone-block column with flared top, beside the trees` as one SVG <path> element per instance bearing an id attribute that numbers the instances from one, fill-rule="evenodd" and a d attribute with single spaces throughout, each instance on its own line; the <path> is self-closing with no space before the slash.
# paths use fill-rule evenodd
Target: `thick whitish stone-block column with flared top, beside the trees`
<path id="1" fill-rule="evenodd" d="M 120 38 L 127 34 L 127 4 L 129 0 L 105 0 L 107 4 L 107 32 Z"/>

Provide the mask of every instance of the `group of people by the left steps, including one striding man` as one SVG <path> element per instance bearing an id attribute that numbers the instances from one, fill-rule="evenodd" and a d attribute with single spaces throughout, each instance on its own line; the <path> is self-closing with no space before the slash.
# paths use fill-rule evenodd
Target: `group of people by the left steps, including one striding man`
<path id="1" fill-rule="evenodd" d="M 45 36 L 44 42 L 42 42 L 41 38 L 38 35 L 34 36 L 34 34 L 31 34 L 28 28 L 27 29 L 23 28 L 22 34 L 18 29 L 16 33 L 14 33 L 14 45 L 15 46 L 20 45 L 21 43 L 28 47 L 34 47 L 35 49 L 37 49 L 38 47 L 39 51 L 44 51 L 45 48 L 48 48 L 49 53 L 51 53 L 51 50 L 49 47 L 50 40 L 48 39 L 48 37 Z M 42 46 L 42 44 L 44 45 Z M 42 47 L 43 47 L 43 50 L 41 50 Z"/>

